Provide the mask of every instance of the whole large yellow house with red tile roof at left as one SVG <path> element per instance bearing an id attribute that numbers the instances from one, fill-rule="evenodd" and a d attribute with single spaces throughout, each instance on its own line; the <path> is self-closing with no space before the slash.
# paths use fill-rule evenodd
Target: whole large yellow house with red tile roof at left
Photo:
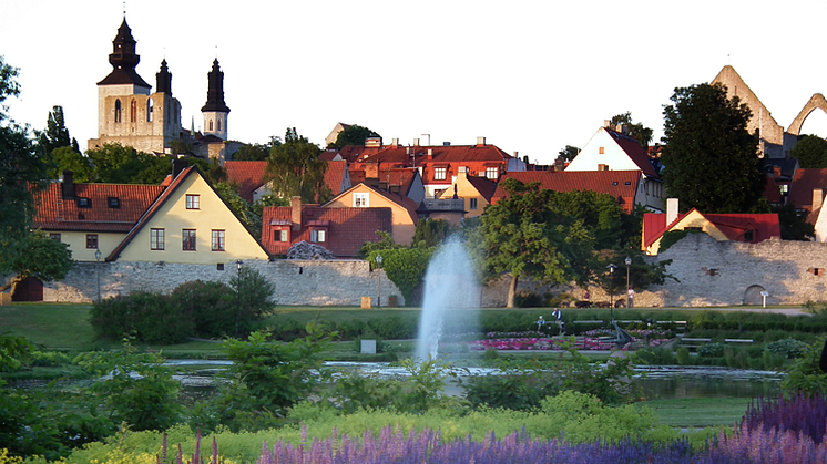
<path id="1" fill-rule="evenodd" d="M 62 182 L 35 194 L 35 228 L 78 261 L 224 264 L 268 259 L 232 209 L 187 167 L 163 185 Z"/>

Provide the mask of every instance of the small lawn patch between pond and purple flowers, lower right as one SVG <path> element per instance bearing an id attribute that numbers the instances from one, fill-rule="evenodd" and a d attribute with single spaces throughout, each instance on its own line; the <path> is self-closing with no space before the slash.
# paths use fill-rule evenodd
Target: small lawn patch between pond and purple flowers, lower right
<path id="1" fill-rule="evenodd" d="M 637 404 L 655 410 L 657 419 L 666 425 L 694 429 L 735 425 L 752 401 L 746 398 L 687 398 L 651 400 Z"/>

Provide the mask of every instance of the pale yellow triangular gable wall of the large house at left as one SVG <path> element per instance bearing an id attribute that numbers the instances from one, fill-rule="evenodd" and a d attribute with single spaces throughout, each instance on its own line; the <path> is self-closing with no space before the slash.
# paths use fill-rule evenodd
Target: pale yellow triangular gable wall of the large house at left
<path id="1" fill-rule="evenodd" d="M 106 260 L 223 265 L 268 258 L 201 172 L 187 167 Z"/>

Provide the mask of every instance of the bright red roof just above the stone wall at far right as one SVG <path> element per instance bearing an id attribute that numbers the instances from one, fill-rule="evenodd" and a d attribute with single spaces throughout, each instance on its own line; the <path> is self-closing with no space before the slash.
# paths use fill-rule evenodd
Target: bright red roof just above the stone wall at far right
<path id="1" fill-rule="evenodd" d="M 697 212 L 697 209 L 692 209 Z M 643 247 L 649 248 L 657 241 L 666 231 L 674 227 L 677 223 L 686 217 L 690 213 L 678 214 L 677 219 L 672 224 L 666 224 L 666 214 L 663 213 L 645 213 L 643 215 Z M 700 212 L 698 212 L 700 213 Z M 778 215 L 772 214 L 703 214 L 706 220 L 712 223 L 718 230 L 721 230 L 726 238 L 734 241 L 746 241 L 744 234 L 746 231 L 754 231 L 753 239 L 751 243 L 764 241 L 772 237 L 782 236 L 780 224 L 778 223 Z"/>

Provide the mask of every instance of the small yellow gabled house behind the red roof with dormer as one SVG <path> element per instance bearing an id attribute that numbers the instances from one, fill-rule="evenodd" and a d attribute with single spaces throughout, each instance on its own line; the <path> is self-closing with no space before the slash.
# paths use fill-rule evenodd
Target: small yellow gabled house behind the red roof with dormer
<path id="1" fill-rule="evenodd" d="M 337 195 L 321 207 L 390 208 L 390 235 L 394 237 L 394 241 L 400 245 L 414 243 L 414 231 L 419 221 L 419 215 L 417 214 L 419 205 L 406 196 L 384 192 L 360 183 Z"/>

